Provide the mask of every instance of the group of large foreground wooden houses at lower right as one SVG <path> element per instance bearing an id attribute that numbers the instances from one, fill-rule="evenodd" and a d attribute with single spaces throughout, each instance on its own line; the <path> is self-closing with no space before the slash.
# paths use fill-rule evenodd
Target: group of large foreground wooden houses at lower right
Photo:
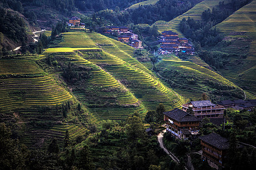
<path id="1" fill-rule="evenodd" d="M 248 107 L 245 107 L 248 106 Z M 224 168 L 229 148 L 229 140 L 216 133 L 200 137 L 199 126 L 204 117 L 208 117 L 212 124 L 221 126 L 225 123 L 225 107 L 236 109 L 251 109 L 256 106 L 256 100 L 224 100 L 213 104 L 210 100 L 191 101 L 182 105 L 182 110 L 175 108 L 172 111 L 163 112 L 166 131 L 178 139 L 201 140 L 203 151 L 202 158 L 215 169 Z M 188 111 L 190 111 L 188 113 Z M 193 114 L 191 114 L 193 111 Z M 238 145 L 238 149 L 242 148 Z"/>

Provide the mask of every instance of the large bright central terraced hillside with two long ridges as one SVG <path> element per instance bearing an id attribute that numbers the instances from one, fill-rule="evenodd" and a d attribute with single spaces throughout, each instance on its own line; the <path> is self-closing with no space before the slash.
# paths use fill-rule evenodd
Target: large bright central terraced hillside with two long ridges
<path id="1" fill-rule="evenodd" d="M 60 52 L 61 49 L 67 52 L 72 49 L 72 46 L 76 47 L 74 48 L 76 55 L 71 57 L 77 60 L 74 62 L 82 62 L 86 66 L 93 65 L 90 67 L 98 68 L 93 69 L 93 79 L 88 83 L 92 83 L 93 87 L 97 87 L 97 85 L 108 87 L 112 91 L 120 87 L 120 91 L 127 93 L 123 94 L 122 92 L 122 95 L 111 93 L 112 96 L 109 97 L 115 97 L 118 102 L 112 104 L 112 107 L 104 108 L 104 105 L 101 104 L 103 95 L 101 90 L 97 91 L 96 88 L 93 88 L 99 93 L 99 96 L 95 97 L 100 103 L 95 104 L 94 107 L 88 100 L 85 100 L 86 93 L 82 95 L 82 91 L 74 92 L 80 100 L 88 105 L 90 111 L 101 118 L 122 119 L 136 109 L 145 114 L 144 107 L 154 110 L 159 103 L 163 103 L 167 109 L 180 107 L 184 103 L 183 97 L 164 86 L 150 70 L 133 58 L 134 49 L 130 46 L 98 33 L 63 33 L 63 36 L 63 42 L 60 42 L 56 48 L 47 49 L 46 52 Z M 63 55 L 63 57 L 65 56 L 70 58 L 68 55 Z M 85 91 L 87 90 L 88 88 L 85 89 Z M 130 99 L 127 96 L 130 96 Z M 129 107 L 132 109 L 127 109 Z"/>

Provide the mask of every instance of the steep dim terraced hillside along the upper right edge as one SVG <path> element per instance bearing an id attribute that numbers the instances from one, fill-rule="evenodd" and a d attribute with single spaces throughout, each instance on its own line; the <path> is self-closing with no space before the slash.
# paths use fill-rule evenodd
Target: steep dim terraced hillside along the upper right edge
<path id="1" fill-rule="evenodd" d="M 216 47 L 225 53 L 233 54 L 227 69 L 221 70 L 224 76 L 254 95 L 256 94 L 255 8 L 256 1 L 253 1 L 218 24 L 217 28 L 225 33 L 225 41 L 229 44 Z"/>

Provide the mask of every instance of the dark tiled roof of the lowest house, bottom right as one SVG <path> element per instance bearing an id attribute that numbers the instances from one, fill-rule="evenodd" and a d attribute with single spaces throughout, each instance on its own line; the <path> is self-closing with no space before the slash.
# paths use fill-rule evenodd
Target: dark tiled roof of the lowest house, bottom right
<path id="1" fill-rule="evenodd" d="M 221 150 L 226 150 L 229 148 L 229 140 L 224 137 L 221 137 L 216 133 L 211 133 L 203 137 L 199 137 L 199 139 Z"/>

